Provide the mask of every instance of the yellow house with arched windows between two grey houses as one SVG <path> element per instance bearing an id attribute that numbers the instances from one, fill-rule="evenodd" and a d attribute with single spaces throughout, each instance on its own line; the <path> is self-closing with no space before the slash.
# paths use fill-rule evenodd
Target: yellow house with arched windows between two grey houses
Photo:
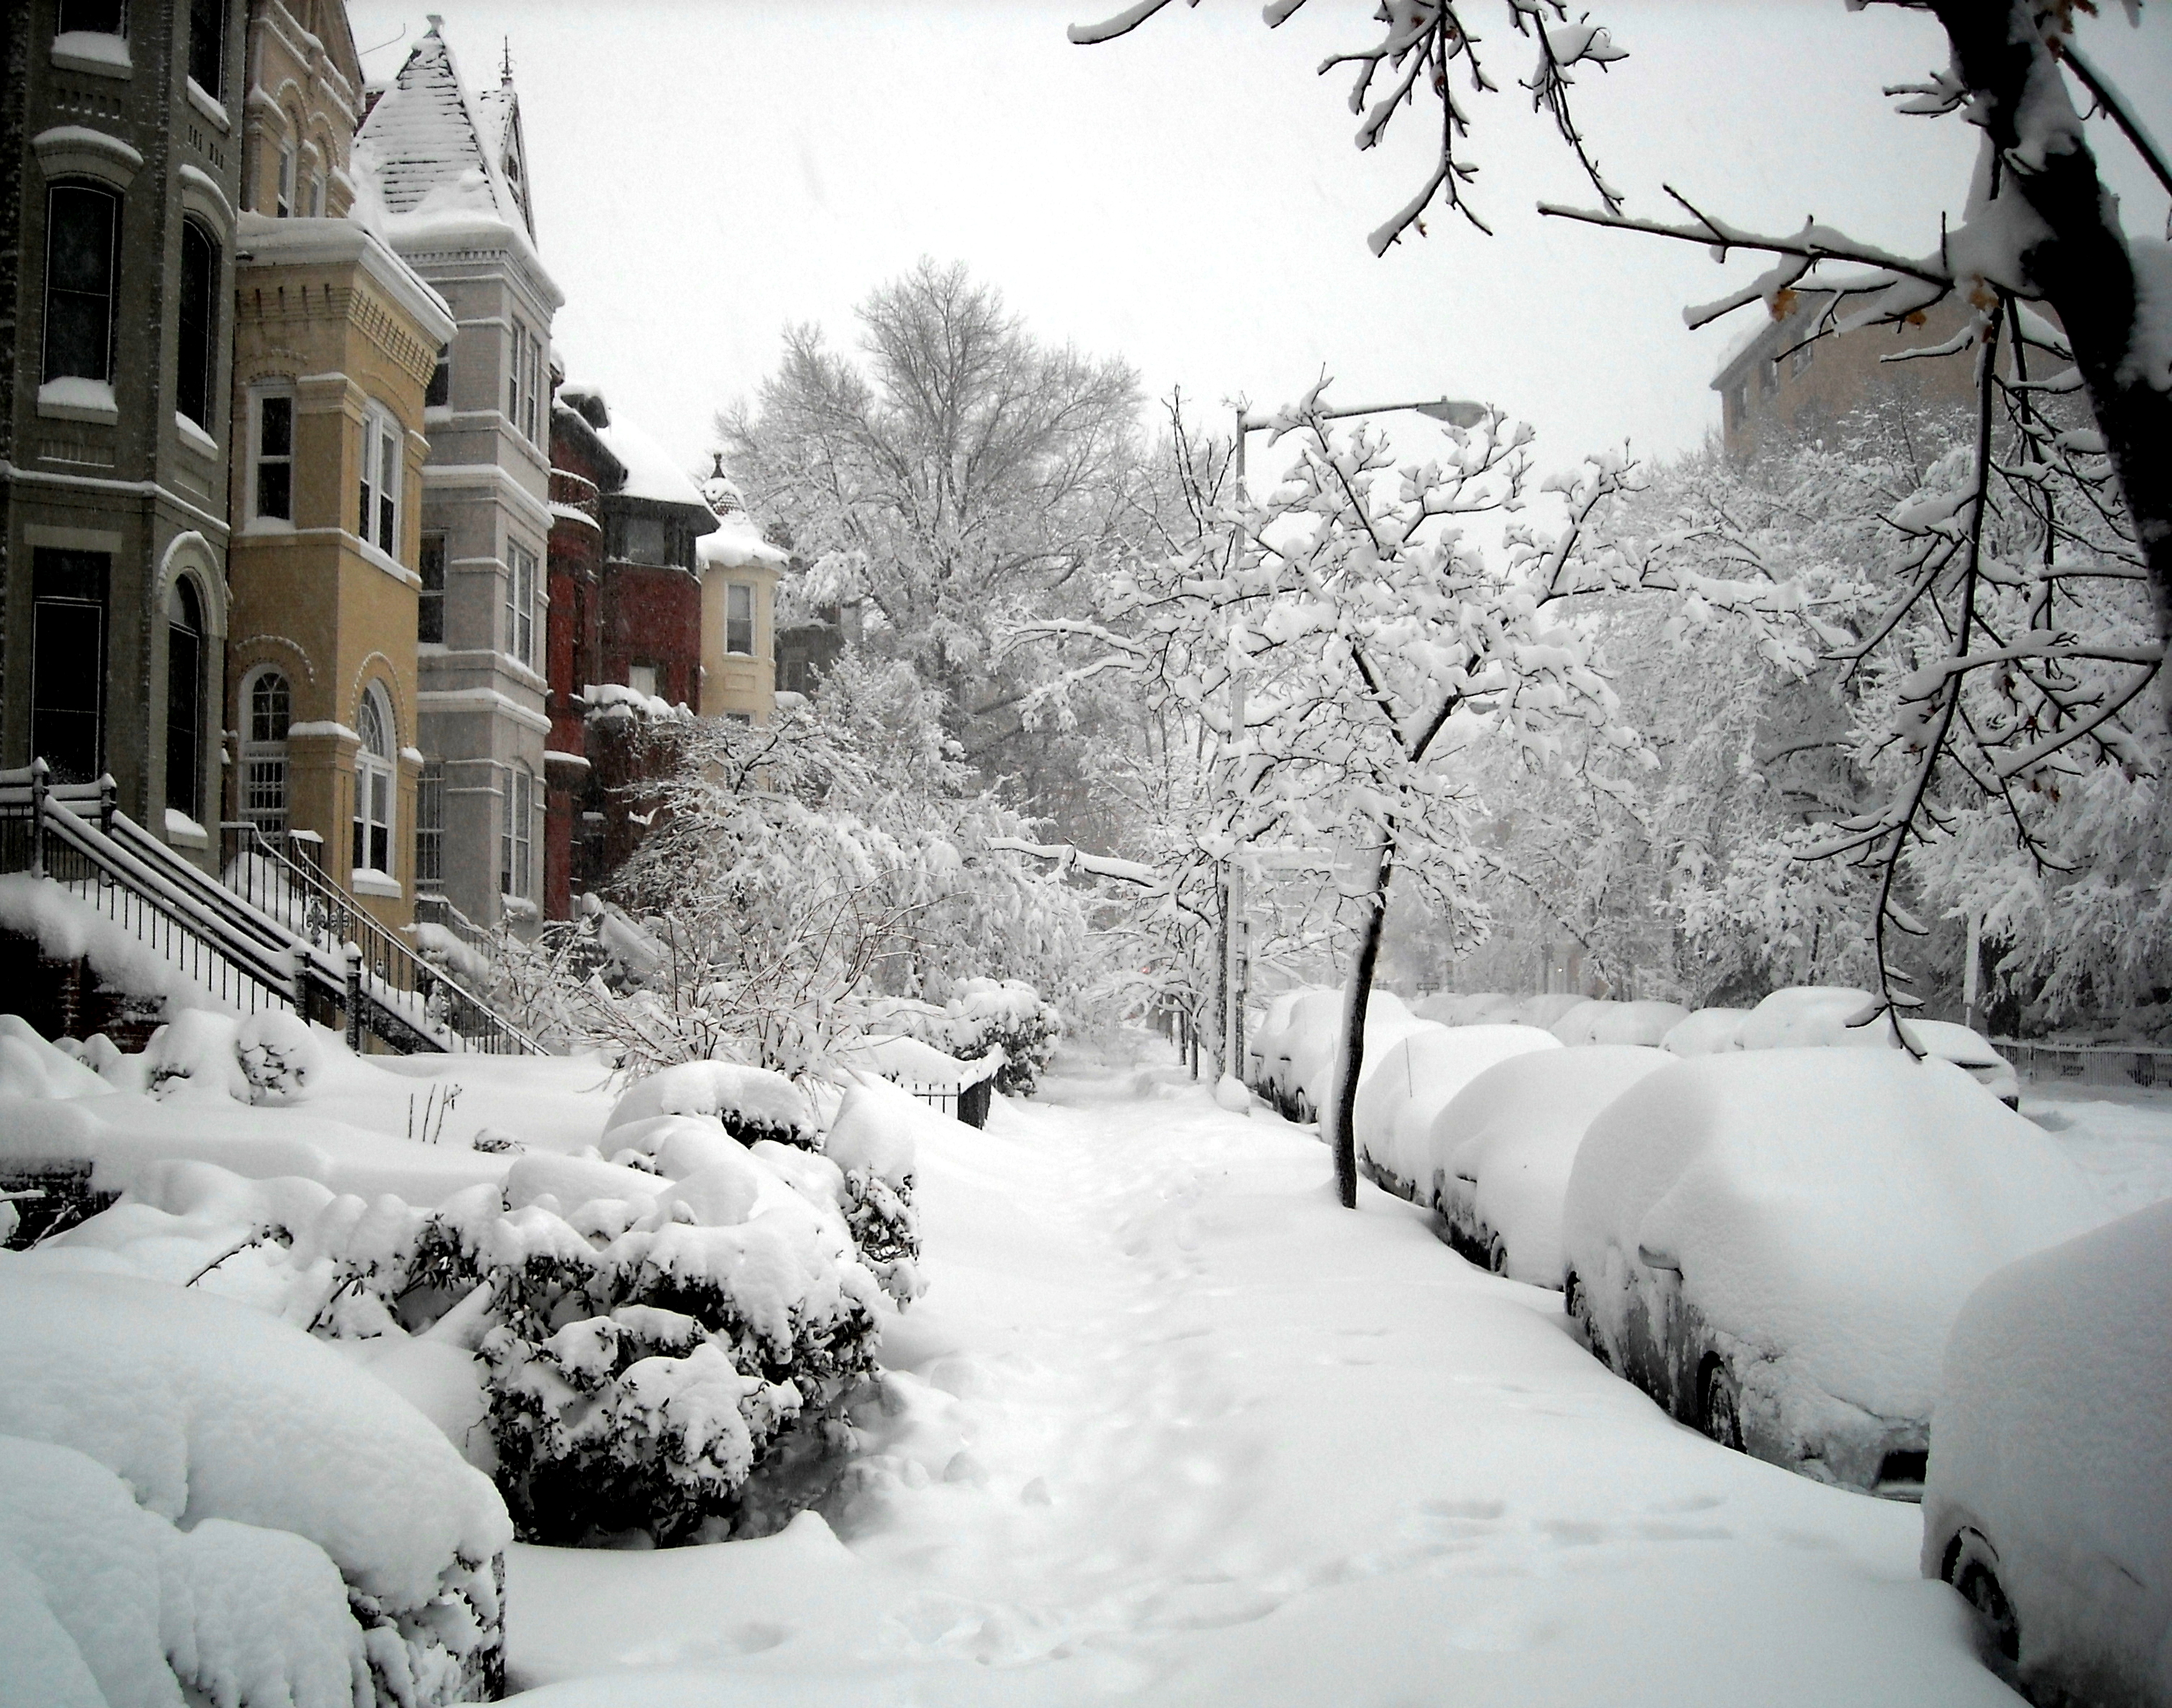
<path id="1" fill-rule="evenodd" d="M 337 0 L 250 11 L 228 619 L 235 821 L 413 915 L 424 395 L 445 300 L 363 219 L 363 74 Z"/>

